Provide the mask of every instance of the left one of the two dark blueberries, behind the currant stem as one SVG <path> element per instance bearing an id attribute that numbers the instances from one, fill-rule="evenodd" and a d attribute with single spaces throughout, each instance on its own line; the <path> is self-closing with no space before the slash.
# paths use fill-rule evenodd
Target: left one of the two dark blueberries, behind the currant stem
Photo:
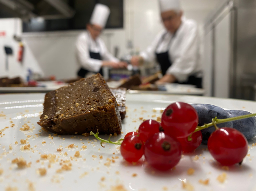
<path id="1" fill-rule="evenodd" d="M 202 126 L 205 123 L 211 123 L 212 119 L 217 117 L 218 119 L 226 119 L 230 118 L 229 114 L 227 111 L 222 109 L 221 107 L 215 106 L 215 105 L 210 105 L 210 104 L 191 104 L 195 110 L 198 113 L 198 125 Z M 233 127 L 232 122 L 226 122 L 226 123 L 220 123 L 218 124 L 218 127 Z M 202 144 L 207 144 L 208 138 L 212 134 L 212 132 L 215 131 L 214 126 L 208 127 L 207 129 L 203 129 L 202 135 L 203 135 L 203 140 Z"/>

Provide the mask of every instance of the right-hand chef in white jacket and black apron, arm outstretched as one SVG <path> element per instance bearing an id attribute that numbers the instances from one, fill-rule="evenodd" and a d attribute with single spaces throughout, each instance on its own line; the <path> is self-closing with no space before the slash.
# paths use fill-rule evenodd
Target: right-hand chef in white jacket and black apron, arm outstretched
<path id="1" fill-rule="evenodd" d="M 202 87 L 200 39 L 195 21 L 183 16 L 179 0 L 159 0 L 165 29 L 132 65 L 156 60 L 163 77 L 157 84 L 179 83 Z"/>

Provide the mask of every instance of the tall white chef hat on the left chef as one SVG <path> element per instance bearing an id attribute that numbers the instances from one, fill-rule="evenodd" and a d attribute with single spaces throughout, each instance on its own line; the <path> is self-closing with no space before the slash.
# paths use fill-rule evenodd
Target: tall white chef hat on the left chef
<path id="1" fill-rule="evenodd" d="M 107 24 L 107 19 L 109 18 L 110 9 L 108 6 L 103 4 L 96 4 L 92 16 L 90 18 L 91 24 L 97 24 L 104 28 Z"/>

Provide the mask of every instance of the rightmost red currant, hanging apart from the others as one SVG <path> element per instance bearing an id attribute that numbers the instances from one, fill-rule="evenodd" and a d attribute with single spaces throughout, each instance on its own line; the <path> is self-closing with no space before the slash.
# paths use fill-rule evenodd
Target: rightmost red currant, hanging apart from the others
<path id="1" fill-rule="evenodd" d="M 242 162 L 248 152 L 248 142 L 244 135 L 228 127 L 214 131 L 207 145 L 213 158 L 225 166 Z"/>

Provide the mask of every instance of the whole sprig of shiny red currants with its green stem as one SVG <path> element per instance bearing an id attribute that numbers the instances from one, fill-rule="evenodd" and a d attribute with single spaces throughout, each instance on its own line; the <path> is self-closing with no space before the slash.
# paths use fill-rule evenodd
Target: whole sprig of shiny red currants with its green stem
<path id="1" fill-rule="evenodd" d="M 208 139 L 209 152 L 222 165 L 241 163 L 248 151 L 246 138 L 236 129 L 218 128 L 216 120 L 212 120 L 216 130 Z M 121 155 L 128 162 L 137 162 L 144 155 L 152 167 L 169 170 L 178 164 L 182 152 L 192 152 L 201 144 L 202 127 L 197 125 L 196 110 L 190 104 L 175 102 L 164 110 L 161 123 L 146 120 L 138 132 L 129 132 L 122 143 L 115 144 L 121 144 Z M 104 142 L 97 134 L 95 137 Z"/>

